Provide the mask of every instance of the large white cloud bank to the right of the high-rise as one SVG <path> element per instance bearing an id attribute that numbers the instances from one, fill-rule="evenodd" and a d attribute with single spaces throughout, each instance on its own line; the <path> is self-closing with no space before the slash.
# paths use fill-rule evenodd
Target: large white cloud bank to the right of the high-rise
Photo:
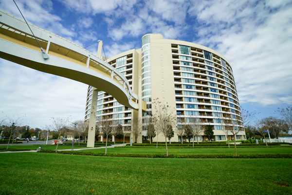
<path id="1" fill-rule="evenodd" d="M 195 42 L 230 61 L 243 103 L 292 103 L 292 6 L 272 4 L 215 0 L 189 10 L 200 22 Z"/>

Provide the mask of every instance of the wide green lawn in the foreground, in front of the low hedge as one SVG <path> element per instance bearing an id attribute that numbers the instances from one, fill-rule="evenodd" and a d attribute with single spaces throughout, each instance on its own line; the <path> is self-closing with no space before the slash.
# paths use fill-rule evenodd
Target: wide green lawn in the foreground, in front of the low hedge
<path id="1" fill-rule="evenodd" d="M 0 158 L 2 195 L 292 194 L 292 159 L 143 159 L 47 153 L 7 153 Z"/>

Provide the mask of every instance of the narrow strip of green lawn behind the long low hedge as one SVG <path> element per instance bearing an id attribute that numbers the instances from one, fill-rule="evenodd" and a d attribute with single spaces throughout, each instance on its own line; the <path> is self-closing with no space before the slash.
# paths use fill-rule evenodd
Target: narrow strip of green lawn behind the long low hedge
<path id="1" fill-rule="evenodd" d="M 80 151 L 105 152 L 105 149 L 88 149 Z M 165 148 L 108 148 L 108 153 L 128 154 L 166 154 Z M 168 154 L 234 154 L 234 148 L 168 148 Z M 291 154 L 291 147 L 268 147 L 268 148 L 237 148 L 237 154 Z"/>

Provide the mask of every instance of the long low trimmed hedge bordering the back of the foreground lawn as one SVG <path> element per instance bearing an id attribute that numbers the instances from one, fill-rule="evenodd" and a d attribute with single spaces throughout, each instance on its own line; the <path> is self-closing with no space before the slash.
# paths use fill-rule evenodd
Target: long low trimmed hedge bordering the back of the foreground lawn
<path id="1" fill-rule="evenodd" d="M 56 153 L 55 150 L 41 150 L 43 153 Z M 77 151 L 57 151 L 58 154 L 69 155 L 86 155 L 86 156 L 107 156 L 107 157 L 131 157 L 131 158 L 177 158 L 177 159 L 292 159 L 292 154 L 245 154 L 245 155 L 231 155 L 231 154 L 207 154 L 207 155 L 183 155 L 175 154 L 123 154 L 123 153 L 99 153 L 99 152 L 77 152 Z"/>

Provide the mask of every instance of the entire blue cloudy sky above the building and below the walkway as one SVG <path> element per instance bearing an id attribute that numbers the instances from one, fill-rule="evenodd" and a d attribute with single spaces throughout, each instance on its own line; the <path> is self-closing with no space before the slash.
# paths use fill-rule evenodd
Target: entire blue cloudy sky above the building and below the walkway
<path id="1" fill-rule="evenodd" d="M 292 0 L 16 0 L 28 22 L 85 47 L 102 40 L 107 57 L 141 48 L 141 37 L 195 42 L 223 54 L 244 109 L 275 115 L 292 106 Z M 13 0 L 0 9 L 18 18 Z M 22 18 L 21 18 L 22 19 Z M 87 48 L 96 53 L 97 44 Z M 0 59 L 0 116 L 84 118 L 88 86 Z"/>

